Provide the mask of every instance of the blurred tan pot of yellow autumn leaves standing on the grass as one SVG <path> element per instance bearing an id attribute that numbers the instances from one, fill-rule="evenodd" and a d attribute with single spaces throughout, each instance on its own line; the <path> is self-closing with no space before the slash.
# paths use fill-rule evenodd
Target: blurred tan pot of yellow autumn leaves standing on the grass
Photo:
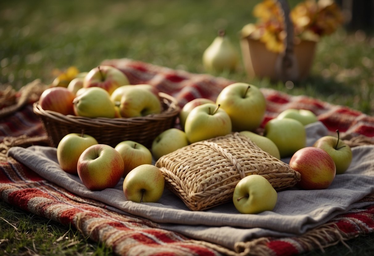
<path id="1" fill-rule="evenodd" d="M 245 68 L 251 77 L 283 81 L 306 78 L 319 39 L 344 20 L 333 0 L 305 0 L 292 10 L 285 0 L 264 0 L 253 15 L 257 22 L 241 30 Z"/>

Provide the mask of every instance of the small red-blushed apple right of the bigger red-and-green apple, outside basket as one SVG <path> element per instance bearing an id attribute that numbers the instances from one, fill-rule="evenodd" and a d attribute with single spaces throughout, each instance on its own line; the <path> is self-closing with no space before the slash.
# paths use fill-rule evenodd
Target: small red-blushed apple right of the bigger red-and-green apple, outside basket
<path id="1" fill-rule="evenodd" d="M 152 163 L 152 154 L 147 147 L 131 140 L 121 141 L 114 147 L 122 156 L 124 168 L 124 177 L 135 167 Z"/>

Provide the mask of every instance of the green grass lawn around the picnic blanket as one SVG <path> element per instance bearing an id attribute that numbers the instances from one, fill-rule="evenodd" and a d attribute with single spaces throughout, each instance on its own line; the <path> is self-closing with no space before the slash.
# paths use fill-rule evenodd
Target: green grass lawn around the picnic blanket
<path id="1" fill-rule="evenodd" d="M 240 52 L 239 31 L 254 21 L 251 10 L 257 2 L 1 1 L 0 85 L 11 84 L 18 89 L 36 78 L 50 83 L 55 68 L 73 65 L 89 71 L 104 59 L 122 57 L 203 73 L 202 53 L 218 29 L 226 29 Z M 298 1 L 289 2 L 294 5 Z M 293 95 L 306 94 L 374 115 L 372 33 L 341 28 L 322 38 L 310 77 L 292 89 L 281 82 L 250 79 L 243 66 L 233 74 L 216 75 Z M 0 203 L 0 255 L 110 253 L 74 229 Z M 347 244 L 356 255 L 369 255 L 374 250 L 373 242 L 371 234 Z M 317 250 L 307 255 L 320 254 Z M 351 255 L 343 244 L 327 248 L 326 254 Z"/>

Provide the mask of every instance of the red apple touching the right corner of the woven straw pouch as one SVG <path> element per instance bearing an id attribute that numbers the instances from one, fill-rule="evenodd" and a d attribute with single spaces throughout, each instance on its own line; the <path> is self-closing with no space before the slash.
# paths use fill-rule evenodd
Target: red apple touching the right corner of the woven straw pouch
<path id="1" fill-rule="evenodd" d="M 301 189 L 326 189 L 335 178 L 335 163 L 318 147 L 304 147 L 291 157 L 289 166 L 301 174 L 297 186 Z"/>

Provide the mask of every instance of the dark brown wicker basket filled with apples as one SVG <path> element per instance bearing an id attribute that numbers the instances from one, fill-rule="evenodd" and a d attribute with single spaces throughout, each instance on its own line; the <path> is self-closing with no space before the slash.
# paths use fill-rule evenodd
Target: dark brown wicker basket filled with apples
<path id="1" fill-rule="evenodd" d="M 180 111 L 174 97 L 159 93 L 162 112 L 135 118 L 85 118 L 82 116 L 62 115 L 61 113 L 43 110 L 38 102 L 33 110 L 40 117 L 43 128 L 50 138 L 52 147 L 69 133 L 89 134 L 98 143 L 115 147 L 124 140 L 133 140 L 150 148 L 152 141 L 161 132 L 172 128 Z"/>

